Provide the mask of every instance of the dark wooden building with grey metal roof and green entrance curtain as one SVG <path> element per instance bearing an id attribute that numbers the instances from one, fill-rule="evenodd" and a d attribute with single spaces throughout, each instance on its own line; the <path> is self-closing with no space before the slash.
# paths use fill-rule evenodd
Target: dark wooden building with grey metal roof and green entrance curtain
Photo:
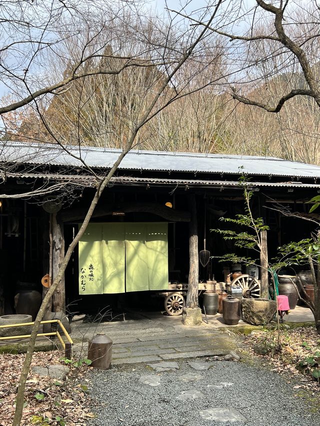
<path id="1" fill-rule="evenodd" d="M 96 177 L 110 170 L 119 153 L 1 142 L 2 315 L 14 312 L 17 282 L 40 290 L 44 275 L 54 278 L 87 212 Z M 189 256 L 197 263 L 204 239 L 212 258 L 205 267 L 196 265 L 196 280 L 223 281 L 218 256 L 236 249 L 211 230 L 226 226 L 220 217 L 243 212 L 240 175 L 253 191 L 253 214 L 270 228 L 270 258 L 280 244 L 314 231 L 316 223 L 303 217 L 308 201 L 320 193 L 320 167 L 270 157 L 131 150 L 101 195 L 52 309 L 67 305 L 72 312 L 92 312 L 110 305 L 116 311 L 130 303 L 150 309 L 155 293 L 177 288 L 183 295 Z"/>

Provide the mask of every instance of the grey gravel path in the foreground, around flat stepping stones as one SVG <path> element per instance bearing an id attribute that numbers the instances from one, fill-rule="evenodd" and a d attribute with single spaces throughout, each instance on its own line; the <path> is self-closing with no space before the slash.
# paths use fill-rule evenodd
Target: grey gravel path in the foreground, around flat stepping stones
<path id="1" fill-rule="evenodd" d="M 205 362 L 203 359 L 192 360 Z M 311 414 L 305 400 L 294 397 L 294 383 L 265 368 L 242 362 L 213 361 L 207 371 L 195 371 L 187 361 L 179 370 L 155 373 L 146 365 L 116 366 L 109 371 L 92 370 L 90 395 L 96 401 L 96 418 L 88 426 L 239 426 L 245 422 L 204 420 L 200 412 L 209 408 L 233 408 L 247 425 L 318 426 L 319 415 Z M 188 373 L 202 376 L 183 382 Z M 141 376 L 160 378 L 159 386 L 139 382 Z M 181 401 L 181 392 L 197 390 L 194 400 Z M 188 395 L 188 393 L 186 393 Z M 182 396 L 182 399 L 185 398 Z"/>

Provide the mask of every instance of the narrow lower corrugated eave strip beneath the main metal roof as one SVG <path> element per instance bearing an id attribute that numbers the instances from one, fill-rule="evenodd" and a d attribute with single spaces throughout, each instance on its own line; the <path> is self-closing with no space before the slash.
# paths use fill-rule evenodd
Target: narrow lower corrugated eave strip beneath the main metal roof
<path id="1" fill-rule="evenodd" d="M 92 175 L 64 175 L 53 173 L 7 173 L 7 177 L 18 179 L 48 179 L 48 180 L 63 180 L 70 182 L 77 182 L 81 185 L 91 186 L 95 183 L 95 178 Z M 110 184 L 128 184 L 128 185 L 181 185 L 181 186 L 207 186 L 207 187 L 237 187 L 242 185 L 238 181 L 229 180 L 203 180 L 203 179 L 165 179 L 165 178 L 152 178 L 152 177 L 133 177 L 133 176 L 113 176 Z M 319 184 L 302 183 L 302 182 L 247 182 L 248 187 L 275 187 L 275 188 L 310 188 L 320 189 Z"/>

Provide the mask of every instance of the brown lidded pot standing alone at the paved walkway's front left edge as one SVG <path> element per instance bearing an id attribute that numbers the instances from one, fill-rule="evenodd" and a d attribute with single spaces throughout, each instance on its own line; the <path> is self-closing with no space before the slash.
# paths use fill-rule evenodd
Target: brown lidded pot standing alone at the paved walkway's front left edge
<path id="1" fill-rule="evenodd" d="M 88 343 L 88 360 L 91 366 L 108 370 L 111 366 L 112 340 L 104 333 L 98 333 Z"/>

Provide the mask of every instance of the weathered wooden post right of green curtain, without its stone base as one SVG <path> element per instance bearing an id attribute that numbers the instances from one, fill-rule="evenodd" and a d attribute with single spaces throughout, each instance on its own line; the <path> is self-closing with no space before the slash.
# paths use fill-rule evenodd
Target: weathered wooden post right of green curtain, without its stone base
<path id="1" fill-rule="evenodd" d="M 196 222 L 195 195 L 188 197 L 191 221 L 189 222 L 189 279 L 186 294 L 186 307 L 198 307 L 198 284 L 199 284 L 199 255 L 198 255 L 198 233 Z"/>

